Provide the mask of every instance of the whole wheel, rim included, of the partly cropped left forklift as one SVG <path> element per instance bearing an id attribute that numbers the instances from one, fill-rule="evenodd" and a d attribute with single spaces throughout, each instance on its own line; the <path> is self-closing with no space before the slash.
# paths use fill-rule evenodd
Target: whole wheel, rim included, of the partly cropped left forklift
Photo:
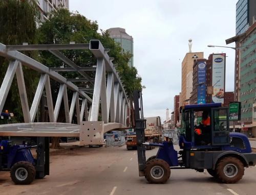
<path id="1" fill-rule="evenodd" d="M 11 168 L 11 179 L 15 184 L 28 185 L 34 181 L 35 175 L 35 167 L 30 162 L 19 161 Z"/>

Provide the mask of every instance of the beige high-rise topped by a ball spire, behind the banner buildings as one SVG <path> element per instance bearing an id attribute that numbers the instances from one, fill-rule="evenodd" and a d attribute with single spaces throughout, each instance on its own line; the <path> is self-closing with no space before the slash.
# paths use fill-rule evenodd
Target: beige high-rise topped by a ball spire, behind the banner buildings
<path id="1" fill-rule="evenodd" d="M 182 61 L 181 70 L 181 94 L 180 94 L 180 105 L 185 105 L 189 102 L 193 88 L 193 65 L 194 59 L 203 58 L 203 52 L 191 52 L 186 53 Z"/>

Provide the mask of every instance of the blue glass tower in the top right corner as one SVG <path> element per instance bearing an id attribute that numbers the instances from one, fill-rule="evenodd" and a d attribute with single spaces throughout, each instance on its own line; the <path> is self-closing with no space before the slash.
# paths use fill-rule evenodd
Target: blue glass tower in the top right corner
<path id="1" fill-rule="evenodd" d="M 256 19 L 256 1 L 239 0 L 236 10 L 236 35 L 239 35 L 254 23 Z"/>

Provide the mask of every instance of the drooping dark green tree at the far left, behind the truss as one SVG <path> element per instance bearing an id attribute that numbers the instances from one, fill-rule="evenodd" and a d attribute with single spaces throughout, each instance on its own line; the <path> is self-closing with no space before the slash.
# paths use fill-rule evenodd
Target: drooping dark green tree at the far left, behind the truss
<path id="1" fill-rule="evenodd" d="M 38 18 L 37 5 L 35 1 L 28 0 L 2 0 L 0 1 L 0 42 L 5 45 L 22 45 L 23 42 L 36 44 L 36 20 Z M 26 55 L 33 58 L 37 57 L 36 52 L 26 52 Z M 9 60 L 0 57 L 0 83 L 5 76 L 8 68 Z M 31 103 L 38 75 L 23 67 L 25 82 L 29 83 L 27 87 L 27 95 L 29 103 Z M 23 114 L 20 105 L 17 82 L 14 78 L 11 89 L 8 94 L 4 109 L 14 113 L 16 122 L 22 122 Z"/>

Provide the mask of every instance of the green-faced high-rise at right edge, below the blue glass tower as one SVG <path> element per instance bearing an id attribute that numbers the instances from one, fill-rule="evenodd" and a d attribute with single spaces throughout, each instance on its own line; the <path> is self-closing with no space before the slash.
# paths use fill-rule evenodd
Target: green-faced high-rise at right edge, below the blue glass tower
<path id="1" fill-rule="evenodd" d="M 250 1 L 254 6 L 256 1 Z M 253 4 L 254 3 L 254 4 Z M 234 101 L 241 102 L 241 120 L 237 122 L 242 132 L 256 136 L 256 22 L 244 33 L 226 40 L 226 44 L 236 42 Z"/>

